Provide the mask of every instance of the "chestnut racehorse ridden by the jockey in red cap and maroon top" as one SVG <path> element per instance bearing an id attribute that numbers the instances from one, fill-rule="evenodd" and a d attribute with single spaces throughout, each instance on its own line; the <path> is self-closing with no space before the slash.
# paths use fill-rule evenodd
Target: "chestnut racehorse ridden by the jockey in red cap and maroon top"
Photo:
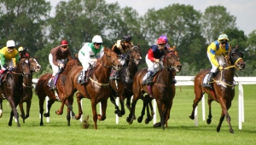
<path id="1" fill-rule="evenodd" d="M 46 113 L 44 113 L 44 117 L 49 117 L 49 110 L 52 104 L 55 101 L 60 101 L 60 102 L 66 103 L 67 105 L 67 125 L 70 125 L 70 118 L 71 118 L 70 112 L 73 113 L 73 110 L 72 110 L 73 97 L 70 97 L 70 99 L 66 100 L 63 97 L 63 93 L 65 91 L 64 86 L 68 85 L 66 83 L 67 74 L 73 69 L 73 67 L 76 67 L 76 66 L 79 66 L 79 60 L 77 59 L 73 59 L 67 62 L 67 66 L 65 67 L 64 71 L 59 74 L 60 76 L 57 79 L 56 90 L 49 90 L 49 86 L 47 85 L 49 78 L 51 78 L 52 76 L 52 73 L 45 73 L 38 79 L 38 84 L 36 85 L 35 92 L 38 95 L 38 99 L 39 99 L 39 108 L 40 108 L 39 112 L 41 116 L 40 125 L 44 125 L 43 113 L 44 113 L 44 101 L 46 96 L 49 97 L 49 101 L 48 101 L 48 110 L 46 110 Z M 61 115 L 63 113 L 62 111 L 63 111 L 63 108 L 61 111 L 58 110 L 55 113 L 58 115 Z"/>

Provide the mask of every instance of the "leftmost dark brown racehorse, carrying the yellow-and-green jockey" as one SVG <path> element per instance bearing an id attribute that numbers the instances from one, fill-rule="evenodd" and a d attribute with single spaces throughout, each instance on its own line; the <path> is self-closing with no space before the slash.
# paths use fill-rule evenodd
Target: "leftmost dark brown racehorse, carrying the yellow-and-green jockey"
<path id="1" fill-rule="evenodd" d="M 0 94 L 8 100 L 12 111 L 9 118 L 9 126 L 12 125 L 13 117 L 17 120 L 17 126 L 20 127 L 19 113 L 16 107 L 20 103 L 23 94 L 23 78 L 31 78 L 30 61 L 23 58 L 19 61 L 14 71 L 9 71 L 7 77 L 3 78 L 4 82 L 0 88 Z M 3 96 L 1 99 L 3 99 Z"/>

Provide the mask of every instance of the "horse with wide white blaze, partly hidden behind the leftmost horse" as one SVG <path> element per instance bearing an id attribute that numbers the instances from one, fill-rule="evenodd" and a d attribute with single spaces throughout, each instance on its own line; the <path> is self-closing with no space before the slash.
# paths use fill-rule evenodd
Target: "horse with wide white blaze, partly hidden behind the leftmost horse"
<path id="1" fill-rule="evenodd" d="M 31 70 L 31 75 L 32 73 L 37 73 L 40 71 L 41 66 L 39 65 L 38 61 L 36 58 L 29 58 L 30 61 L 30 70 Z M 32 100 L 32 76 L 30 78 L 23 77 L 23 97 L 22 100 L 19 103 L 20 107 L 20 117 L 23 119 L 23 123 L 25 123 L 25 119 L 29 117 L 29 111 L 31 107 L 31 100 Z M 26 115 L 24 113 L 24 108 L 23 108 L 23 102 L 26 102 Z"/>

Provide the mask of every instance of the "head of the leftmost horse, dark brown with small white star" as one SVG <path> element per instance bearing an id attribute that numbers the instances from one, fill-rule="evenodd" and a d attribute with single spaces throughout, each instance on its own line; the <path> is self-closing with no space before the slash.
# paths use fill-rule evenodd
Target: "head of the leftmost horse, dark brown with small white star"
<path id="1" fill-rule="evenodd" d="M 21 73 L 26 78 L 30 78 L 32 76 L 30 66 L 31 66 L 31 64 L 30 64 L 29 59 L 22 58 L 15 69 L 15 73 Z"/>

